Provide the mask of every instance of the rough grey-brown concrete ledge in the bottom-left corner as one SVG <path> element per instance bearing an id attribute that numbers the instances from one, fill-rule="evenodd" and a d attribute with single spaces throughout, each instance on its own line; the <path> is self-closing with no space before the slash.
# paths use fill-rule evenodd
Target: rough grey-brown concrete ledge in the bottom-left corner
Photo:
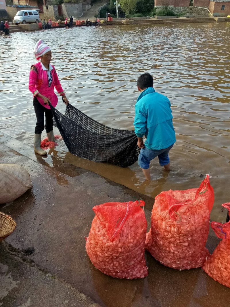
<path id="1" fill-rule="evenodd" d="M 0 244 L 0 306 L 99 307 L 4 243 Z"/>

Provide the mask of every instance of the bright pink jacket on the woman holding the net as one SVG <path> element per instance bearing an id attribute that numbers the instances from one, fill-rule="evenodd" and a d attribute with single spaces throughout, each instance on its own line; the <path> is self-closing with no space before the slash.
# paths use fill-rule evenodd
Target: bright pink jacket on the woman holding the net
<path id="1" fill-rule="evenodd" d="M 58 103 L 58 98 L 57 98 L 57 95 L 54 93 L 54 88 L 56 88 L 56 91 L 61 96 L 65 95 L 65 93 L 62 89 L 62 86 L 60 84 L 60 81 L 58 79 L 54 66 L 51 65 L 53 69 L 51 70 L 52 83 L 50 87 L 48 86 L 49 81 L 48 81 L 47 71 L 42 69 L 41 63 L 39 62 L 32 66 L 36 68 L 36 69 L 30 70 L 30 73 L 29 73 L 29 90 L 33 93 L 33 97 L 36 96 L 38 93 L 40 93 L 50 100 L 53 107 L 56 107 Z M 48 106 L 47 104 L 44 104 L 43 99 L 41 99 L 40 97 L 37 97 L 37 100 L 45 108 L 50 109 L 50 106 Z"/>

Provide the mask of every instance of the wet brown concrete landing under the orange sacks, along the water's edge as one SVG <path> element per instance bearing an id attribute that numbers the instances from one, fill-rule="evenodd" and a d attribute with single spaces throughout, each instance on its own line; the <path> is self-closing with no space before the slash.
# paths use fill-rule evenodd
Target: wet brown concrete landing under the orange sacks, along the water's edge
<path id="1" fill-rule="evenodd" d="M 230 289 L 209 278 L 201 269 L 167 268 L 146 253 L 149 275 L 120 280 L 94 268 L 85 252 L 85 239 L 94 218 L 92 207 L 108 201 L 146 201 L 150 223 L 153 199 L 114 184 L 94 173 L 57 162 L 45 165 L 27 145 L 0 136 L 1 163 L 17 163 L 31 175 L 33 188 L 0 211 L 12 215 L 16 231 L 6 239 L 20 250 L 35 248 L 31 259 L 41 269 L 67 282 L 101 306 L 228 306 Z M 218 239 L 210 235 L 212 252 Z"/>

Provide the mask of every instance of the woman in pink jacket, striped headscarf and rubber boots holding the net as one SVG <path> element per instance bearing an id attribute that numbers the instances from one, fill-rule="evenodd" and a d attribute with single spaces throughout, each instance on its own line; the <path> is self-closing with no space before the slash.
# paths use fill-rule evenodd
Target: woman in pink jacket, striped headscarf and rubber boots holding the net
<path id="1" fill-rule="evenodd" d="M 45 155 L 46 151 L 41 149 L 41 133 L 46 129 L 48 141 L 55 142 L 53 134 L 53 115 L 49 103 L 56 107 L 58 103 L 54 88 L 62 96 L 64 103 L 69 103 L 58 80 L 56 70 L 50 64 L 52 54 L 50 48 L 42 40 L 38 41 L 34 47 L 34 56 L 38 63 L 30 68 L 29 90 L 33 93 L 33 106 L 37 122 L 34 131 L 34 151 L 40 155 Z M 44 125 L 45 114 L 45 125 Z"/>

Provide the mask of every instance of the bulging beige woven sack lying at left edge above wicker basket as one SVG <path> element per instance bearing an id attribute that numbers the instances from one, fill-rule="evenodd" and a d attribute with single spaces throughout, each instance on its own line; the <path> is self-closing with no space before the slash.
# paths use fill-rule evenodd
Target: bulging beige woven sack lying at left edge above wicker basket
<path id="1" fill-rule="evenodd" d="M 9 203 L 32 187 L 29 173 L 17 164 L 0 164 L 0 204 Z"/>

